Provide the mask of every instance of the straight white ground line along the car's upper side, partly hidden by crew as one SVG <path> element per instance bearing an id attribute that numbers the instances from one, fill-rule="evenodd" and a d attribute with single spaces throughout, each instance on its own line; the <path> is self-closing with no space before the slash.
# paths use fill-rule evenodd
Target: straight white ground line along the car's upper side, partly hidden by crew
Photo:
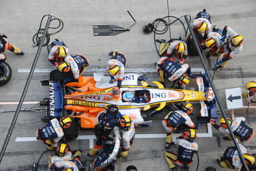
<path id="1" fill-rule="evenodd" d="M 51 72 L 53 69 L 50 69 L 50 68 L 38 68 L 38 69 L 35 69 L 34 72 Z M 191 68 L 191 71 L 192 72 L 204 72 L 204 69 L 203 68 Z M 30 72 L 30 69 L 26 69 L 26 68 L 23 68 L 23 69 L 18 69 L 18 72 Z M 90 68 L 90 69 L 87 69 L 85 72 L 106 72 L 106 69 L 104 68 Z M 127 68 L 126 69 L 126 72 L 156 72 L 156 69 L 154 68 L 141 68 L 141 69 L 138 69 L 138 68 L 135 68 L 135 69 L 132 69 L 132 68 Z"/>

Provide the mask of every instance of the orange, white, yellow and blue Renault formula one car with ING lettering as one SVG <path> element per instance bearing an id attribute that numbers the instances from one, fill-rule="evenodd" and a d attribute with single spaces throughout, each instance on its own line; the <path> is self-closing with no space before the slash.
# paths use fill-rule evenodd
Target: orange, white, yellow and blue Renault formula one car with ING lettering
<path id="1" fill-rule="evenodd" d="M 212 103 L 214 93 L 203 74 L 192 77 L 196 79 L 199 91 L 165 89 L 156 81 L 153 81 L 156 87 L 143 81 L 138 86 L 139 75 L 133 73 L 125 74 L 119 90 L 117 83 L 109 84 L 109 76 L 99 77 L 96 74 L 94 77 L 81 76 L 79 82 L 70 82 L 63 86 L 59 80 L 50 80 L 48 116 L 52 118 L 72 115 L 80 119 L 81 127 L 94 128 L 98 113 L 115 104 L 121 114 L 130 116 L 134 124 L 139 125 L 148 123 L 141 116 L 141 110 L 153 108 L 158 111 L 169 103 L 177 102 L 200 102 L 201 116 L 211 116 L 209 109 L 215 105 Z"/>

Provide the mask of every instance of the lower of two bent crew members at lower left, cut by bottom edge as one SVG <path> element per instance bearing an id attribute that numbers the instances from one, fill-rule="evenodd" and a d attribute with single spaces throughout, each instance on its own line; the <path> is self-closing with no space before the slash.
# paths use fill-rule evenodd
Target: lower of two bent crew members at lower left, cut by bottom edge
<path id="1" fill-rule="evenodd" d="M 54 171 L 57 168 L 63 168 L 64 171 L 83 171 L 83 165 L 80 161 L 81 155 L 81 151 L 76 151 L 71 160 L 57 161 L 56 163 L 52 164 L 49 171 Z"/>

